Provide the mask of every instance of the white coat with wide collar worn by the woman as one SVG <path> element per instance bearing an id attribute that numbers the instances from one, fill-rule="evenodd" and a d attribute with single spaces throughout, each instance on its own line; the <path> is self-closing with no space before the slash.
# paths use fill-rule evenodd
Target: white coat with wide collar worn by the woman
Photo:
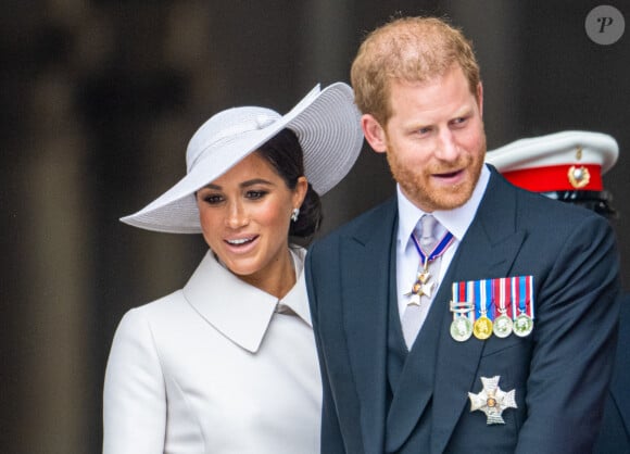
<path id="1" fill-rule="evenodd" d="M 209 252 L 184 289 L 129 311 L 105 374 L 103 453 L 319 453 L 303 257 L 281 301 Z"/>

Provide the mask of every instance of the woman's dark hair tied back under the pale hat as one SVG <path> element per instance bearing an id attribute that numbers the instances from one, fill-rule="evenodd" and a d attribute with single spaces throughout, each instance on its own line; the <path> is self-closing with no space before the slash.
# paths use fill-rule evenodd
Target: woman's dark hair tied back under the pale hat
<path id="1" fill-rule="evenodd" d="M 289 189 L 295 189 L 298 178 L 304 176 L 304 153 L 298 136 L 292 130 L 282 129 L 257 152 L 272 164 Z M 311 241 L 319 229 L 322 217 L 322 201 L 308 184 L 306 197 L 300 206 L 300 216 L 297 222 L 291 222 L 289 236 Z"/>

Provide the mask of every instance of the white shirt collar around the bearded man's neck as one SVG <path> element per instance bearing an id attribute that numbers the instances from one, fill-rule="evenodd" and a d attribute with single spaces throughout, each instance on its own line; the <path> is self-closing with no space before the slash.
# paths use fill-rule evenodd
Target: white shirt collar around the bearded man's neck
<path id="1" fill-rule="evenodd" d="M 462 206 L 454 210 L 437 210 L 431 213 L 438 222 L 444 226 L 457 241 L 461 241 L 466 235 L 466 230 L 472 223 L 479 203 L 483 198 L 486 188 L 488 187 L 488 181 L 490 180 L 490 171 L 486 165 L 481 168 L 481 174 L 479 180 L 472 190 L 470 199 Z M 396 196 L 398 196 L 398 207 L 399 207 L 399 232 L 398 241 L 399 245 L 405 248 L 407 241 L 416 227 L 416 224 L 420 217 L 426 214 L 423 210 L 418 209 L 412 201 L 410 201 L 405 194 L 402 192 L 400 185 L 396 185 Z"/>

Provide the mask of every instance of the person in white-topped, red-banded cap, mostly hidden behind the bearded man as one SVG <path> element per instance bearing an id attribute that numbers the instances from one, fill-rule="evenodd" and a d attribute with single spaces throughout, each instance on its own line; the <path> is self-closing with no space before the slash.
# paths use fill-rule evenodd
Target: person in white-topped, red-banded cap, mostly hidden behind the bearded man
<path id="1" fill-rule="evenodd" d="M 520 139 L 489 151 L 486 162 L 516 186 L 551 199 L 617 218 L 603 175 L 617 160 L 617 141 L 608 135 L 568 130 Z M 580 184 L 576 173 L 588 175 Z M 630 453 L 630 294 L 621 301 L 619 339 L 613 378 L 604 406 L 596 454 Z"/>

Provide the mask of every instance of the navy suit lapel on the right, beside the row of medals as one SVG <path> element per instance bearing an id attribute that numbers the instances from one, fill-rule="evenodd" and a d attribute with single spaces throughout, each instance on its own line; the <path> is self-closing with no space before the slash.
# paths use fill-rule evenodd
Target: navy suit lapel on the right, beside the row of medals
<path id="1" fill-rule="evenodd" d="M 450 336 L 451 282 L 507 276 L 525 240 L 515 226 L 515 193 L 493 172 L 477 215 L 457 249 L 436 301 L 442 303 L 438 344 L 431 452 L 443 452 L 468 402 L 486 343 L 476 338 L 457 342 Z M 497 223 L 496 219 L 501 219 Z"/>

